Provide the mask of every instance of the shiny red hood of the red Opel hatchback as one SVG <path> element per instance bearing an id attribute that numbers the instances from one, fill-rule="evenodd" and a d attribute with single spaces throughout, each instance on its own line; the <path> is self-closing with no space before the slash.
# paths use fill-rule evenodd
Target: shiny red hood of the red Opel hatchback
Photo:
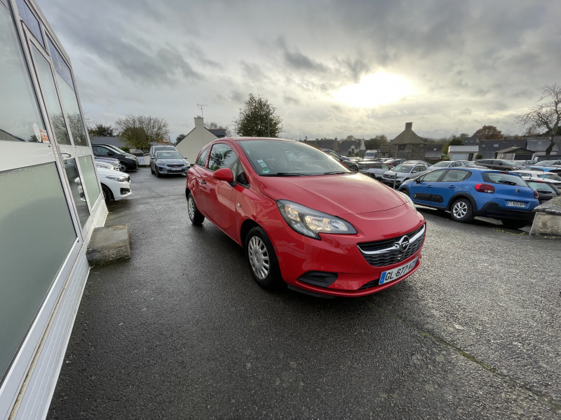
<path id="1" fill-rule="evenodd" d="M 259 176 L 272 200 L 290 200 L 333 216 L 384 211 L 405 204 L 396 191 L 362 174 Z"/>

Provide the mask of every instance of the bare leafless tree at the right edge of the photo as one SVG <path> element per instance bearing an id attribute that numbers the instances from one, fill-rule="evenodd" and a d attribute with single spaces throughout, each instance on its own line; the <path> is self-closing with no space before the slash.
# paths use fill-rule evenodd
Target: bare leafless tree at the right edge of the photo
<path id="1" fill-rule="evenodd" d="M 541 97 L 536 101 L 538 104 L 532 106 L 527 113 L 516 117 L 516 122 L 522 127 L 527 127 L 526 132 L 547 130 L 550 144 L 546 148 L 546 155 L 550 155 L 555 146 L 553 138 L 559 130 L 561 120 L 561 86 L 543 86 Z"/>

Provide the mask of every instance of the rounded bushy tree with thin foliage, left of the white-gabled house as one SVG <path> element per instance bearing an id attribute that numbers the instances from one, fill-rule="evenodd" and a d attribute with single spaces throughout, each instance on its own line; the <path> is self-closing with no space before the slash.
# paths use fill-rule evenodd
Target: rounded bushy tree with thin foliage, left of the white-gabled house
<path id="1" fill-rule="evenodd" d="M 115 125 L 119 128 L 119 137 L 130 148 L 147 152 L 151 143 L 163 143 L 170 137 L 168 122 L 163 118 L 151 116 L 127 116 L 119 118 Z"/>

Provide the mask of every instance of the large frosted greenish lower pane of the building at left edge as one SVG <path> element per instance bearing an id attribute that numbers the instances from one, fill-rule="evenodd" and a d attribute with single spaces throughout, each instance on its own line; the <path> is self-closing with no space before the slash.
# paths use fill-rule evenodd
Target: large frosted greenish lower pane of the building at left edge
<path id="1" fill-rule="evenodd" d="M 54 163 L 0 172 L 0 197 L 3 377 L 74 244 L 76 231 Z"/>

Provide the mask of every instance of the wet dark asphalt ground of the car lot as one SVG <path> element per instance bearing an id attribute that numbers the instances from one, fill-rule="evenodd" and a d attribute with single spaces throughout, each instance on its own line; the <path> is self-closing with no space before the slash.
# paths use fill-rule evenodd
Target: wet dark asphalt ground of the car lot
<path id="1" fill-rule="evenodd" d="M 109 204 L 132 258 L 90 272 L 48 419 L 561 418 L 560 239 L 421 209 L 397 286 L 267 292 L 184 183 L 141 168 Z"/>

